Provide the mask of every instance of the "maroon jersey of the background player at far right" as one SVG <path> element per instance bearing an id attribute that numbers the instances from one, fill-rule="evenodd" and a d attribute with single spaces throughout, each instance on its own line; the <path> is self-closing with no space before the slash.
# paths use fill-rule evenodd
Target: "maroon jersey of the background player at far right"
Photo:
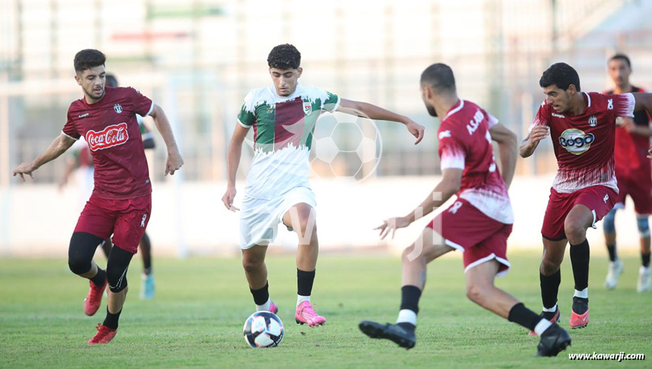
<path id="1" fill-rule="evenodd" d="M 630 92 L 646 92 L 640 87 L 633 87 Z M 613 94 L 613 90 L 605 92 Z M 645 110 L 634 113 L 634 124 L 649 127 L 650 118 Z M 644 173 L 652 175 L 652 165 L 647 159 L 647 150 L 650 148 L 650 138 L 633 134 L 624 127 L 616 126 L 616 144 L 614 149 L 616 178 L 638 179 Z"/>

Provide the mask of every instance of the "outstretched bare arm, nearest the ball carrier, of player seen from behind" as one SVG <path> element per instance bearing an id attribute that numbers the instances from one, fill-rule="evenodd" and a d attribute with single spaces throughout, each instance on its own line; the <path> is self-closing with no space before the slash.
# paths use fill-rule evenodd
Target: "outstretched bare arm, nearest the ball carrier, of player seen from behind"
<path id="1" fill-rule="evenodd" d="M 458 168 L 447 168 L 443 170 L 443 178 L 430 192 L 428 197 L 419 204 L 412 212 L 405 217 L 393 217 L 385 220 L 382 224 L 374 229 L 380 229 L 380 240 L 391 231 L 391 237 L 394 238 L 396 229 L 405 228 L 417 219 L 421 219 L 432 213 L 432 210 L 439 208 L 443 203 L 448 201 L 452 195 L 455 195 L 461 186 L 462 170 Z M 441 197 L 439 196 L 441 194 Z"/>

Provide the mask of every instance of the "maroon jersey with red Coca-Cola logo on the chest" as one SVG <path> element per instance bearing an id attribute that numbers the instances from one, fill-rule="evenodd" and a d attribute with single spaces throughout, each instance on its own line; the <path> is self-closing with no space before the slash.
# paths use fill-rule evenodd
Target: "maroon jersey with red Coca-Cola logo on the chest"
<path id="1" fill-rule="evenodd" d="M 85 98 L 68 108 L 63 134 L 84 136 L 93 155 L 95 188 L 103 199 L 133 199 L 152 192 L 150 174 L 136 114 L 147 116 L 152 100 L 131 87 L 107 87 L 89 105 Z"/>

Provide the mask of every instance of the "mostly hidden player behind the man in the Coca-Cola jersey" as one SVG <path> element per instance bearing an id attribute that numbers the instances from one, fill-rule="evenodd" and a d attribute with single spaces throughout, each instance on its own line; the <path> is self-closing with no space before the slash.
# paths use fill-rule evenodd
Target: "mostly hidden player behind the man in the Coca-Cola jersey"
<path id="1" fill-rule="evenodd" d="M 108 87 L 118 87 L 118 80 L 115 75 L 107 74 L 107 86 Z M 143 138 L 143 147 L 145 147 L 145 155 L 147 158 L 148 168 L 152 168 L 152 163 L 154 163 L 154 135 L 152 131 L 147 127 L 145 123 L 145 118 L 143 116 L 136 114 L 136 120 L 138 120 L 138 126 L 141 130 L 141 137 Z M 111 240 L 106 240 L 105 243 L 110 244 Z M 103 246 L 106 248 L 107 246 Z M 110 246 L 109 246 L 110 247 Z M 154 273 L 152 272 L 152 243 L 150 242 L 150 236 L 147 234 L 147 231 L 143 233 L 143 238 L 139 243 L 139 250 L 141 251 L 141 257 L 143 258 L 143 285 L 141 287 L 141 298 L 150 299 L 154 298 Z"/>

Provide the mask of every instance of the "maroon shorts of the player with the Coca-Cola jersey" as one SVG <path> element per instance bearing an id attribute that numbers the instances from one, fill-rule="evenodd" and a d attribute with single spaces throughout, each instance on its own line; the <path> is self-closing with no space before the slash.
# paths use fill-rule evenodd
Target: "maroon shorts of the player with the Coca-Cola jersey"
<path id="1" fill-rule="evenodd" d="M 150 222 L 152 195 L 126 200 L 107 200 L 95 195 L 87 201 L 79 216 L 75 232 L 85 232 L 107 240 L 130 253 L 138 244 Z"/>

